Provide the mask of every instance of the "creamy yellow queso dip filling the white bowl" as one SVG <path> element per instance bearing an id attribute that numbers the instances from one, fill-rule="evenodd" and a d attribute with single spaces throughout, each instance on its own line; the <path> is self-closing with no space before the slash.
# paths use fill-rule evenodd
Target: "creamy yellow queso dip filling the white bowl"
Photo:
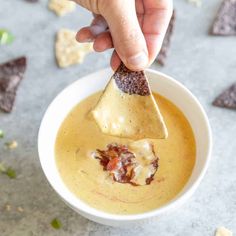
<path id="1" fill-rule="evenodd" d="M 167 139 L 150 140 L 159 168 L 149 185 L 118 183 L 92 154 L 110 143 L 128 145 L 132 140 L 100 131 L 90 113 L 100 95 L 80 102 L 58 131 L 55 156 L 65 185 L 91 207 L 114 214 L 143 213 L 174 199 L 187 183 L 196 157 L 193 131 L 183 113 L 164 97 L 153 94 L 169 132 Z"/>

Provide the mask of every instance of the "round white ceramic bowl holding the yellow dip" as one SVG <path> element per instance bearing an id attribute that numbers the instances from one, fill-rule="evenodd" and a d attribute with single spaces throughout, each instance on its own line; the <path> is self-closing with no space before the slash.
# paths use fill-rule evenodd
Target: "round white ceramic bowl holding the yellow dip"
<path id="1" fill-rule="evenodd" d="M 175 199 L 161 208 L 142 214 L 115 215 L 96 210 L 77 198 L 63 183 L 55 162 L 54 145 L 61 123 L 81 100 L 104 89 L 112 75 L 110 69 L 88 75 L 65 88 L 50 104 L 42 120 L 38 135 L 38 152 L 43 171 L 58 195 L 76 212 L 101 224 L 124 226 L 131 222 L 144 221 L 182 205 L 195 191 L 209 164 L 212 148 L 211 129 L 207 116 L 198 100 L 182 84 L 162 73 L 147 70 L 153 91 L 172 101 L 189 120 L 194 131 L 197 157 L 193 173 Z"/>

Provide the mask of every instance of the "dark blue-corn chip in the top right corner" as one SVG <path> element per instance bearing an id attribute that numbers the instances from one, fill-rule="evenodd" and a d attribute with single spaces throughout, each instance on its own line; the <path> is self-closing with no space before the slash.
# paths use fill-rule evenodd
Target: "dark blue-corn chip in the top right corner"
<path id="1" fill-rule="evenodd" d="M 213 35 L 236 35 L 236 0 L 224 0 L 213 23 Z"/>

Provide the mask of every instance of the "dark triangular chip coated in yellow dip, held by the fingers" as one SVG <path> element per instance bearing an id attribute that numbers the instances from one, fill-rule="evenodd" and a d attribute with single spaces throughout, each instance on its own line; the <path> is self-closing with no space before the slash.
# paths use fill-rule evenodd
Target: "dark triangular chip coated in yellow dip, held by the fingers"
<path id="1" fill-rule="evenodd" d="M 121 64 L 92 110 L 101 131 L 134 140 L 167 138 L 168 132 L 143 71 Z"/>

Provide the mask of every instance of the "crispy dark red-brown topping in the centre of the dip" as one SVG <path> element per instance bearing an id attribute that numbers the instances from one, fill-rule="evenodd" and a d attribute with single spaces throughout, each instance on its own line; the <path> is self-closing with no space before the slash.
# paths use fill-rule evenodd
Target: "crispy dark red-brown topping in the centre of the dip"
<path id="1" fill-rule="evenodd" d="M 97 149 L 96 159 L 99 159 L 104 171 L 109 171 L 113 180 L 119 183 L 129 183 L 138 186 L 134 180 L 135 168 L 139 166 L 135 154 L 130 152 L 128 147 L 112 143 L 107 145 L 107 150 Z M 146 184 L 150 184 L 158 168 L 158 158 L 150 163 L 153 171 L 146 179 Z"/>

